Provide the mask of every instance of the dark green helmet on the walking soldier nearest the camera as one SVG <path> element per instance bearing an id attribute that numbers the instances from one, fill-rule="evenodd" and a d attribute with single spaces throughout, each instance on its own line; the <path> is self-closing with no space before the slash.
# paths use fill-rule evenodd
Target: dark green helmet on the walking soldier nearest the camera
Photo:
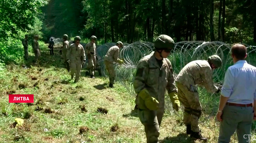
<path id="1" fill-rule="evenodd" d="M 160 35 L 154 42 L 156 50 L 172 50 L 174 47 L 174 40 L 168 35 Z"/>

